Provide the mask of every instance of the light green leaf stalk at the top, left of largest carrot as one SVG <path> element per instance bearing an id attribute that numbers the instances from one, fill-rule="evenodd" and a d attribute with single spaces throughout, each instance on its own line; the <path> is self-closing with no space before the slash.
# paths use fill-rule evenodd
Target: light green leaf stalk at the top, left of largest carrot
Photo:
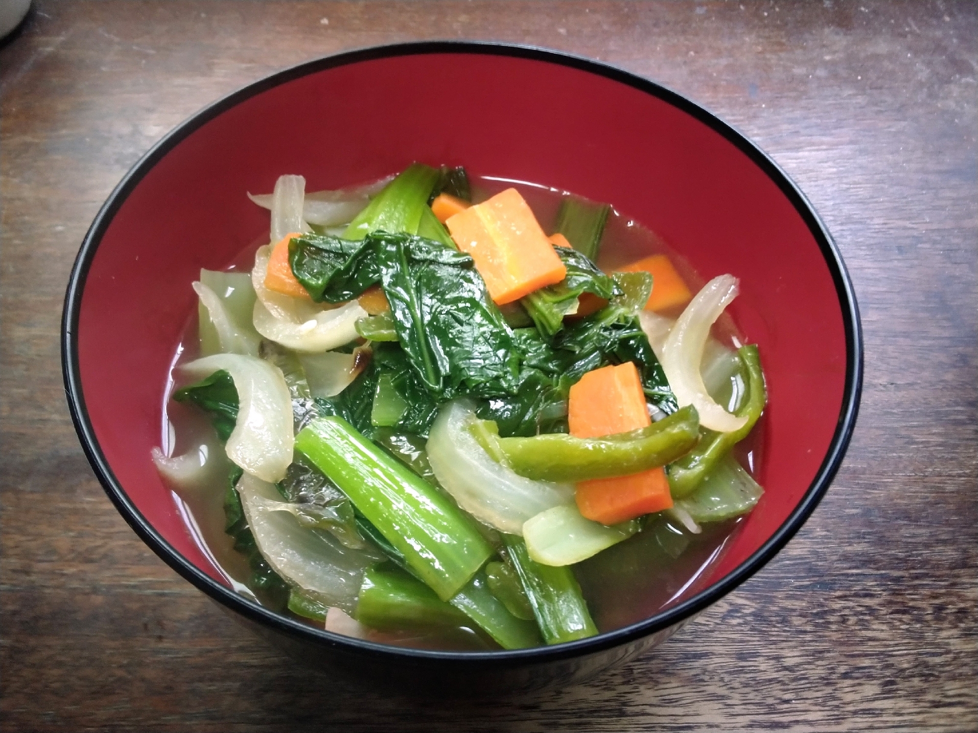
<path id="1" fill-rule="evenodd" d="M 441 174 L 428 165 L 413 163 L 408 166 L 356 215 L 342 238 L 359 240 L 378 230 L 391 234 L 418 234 L 424 209 L 428 208 L 428 196 L 440 177 Z"/>

